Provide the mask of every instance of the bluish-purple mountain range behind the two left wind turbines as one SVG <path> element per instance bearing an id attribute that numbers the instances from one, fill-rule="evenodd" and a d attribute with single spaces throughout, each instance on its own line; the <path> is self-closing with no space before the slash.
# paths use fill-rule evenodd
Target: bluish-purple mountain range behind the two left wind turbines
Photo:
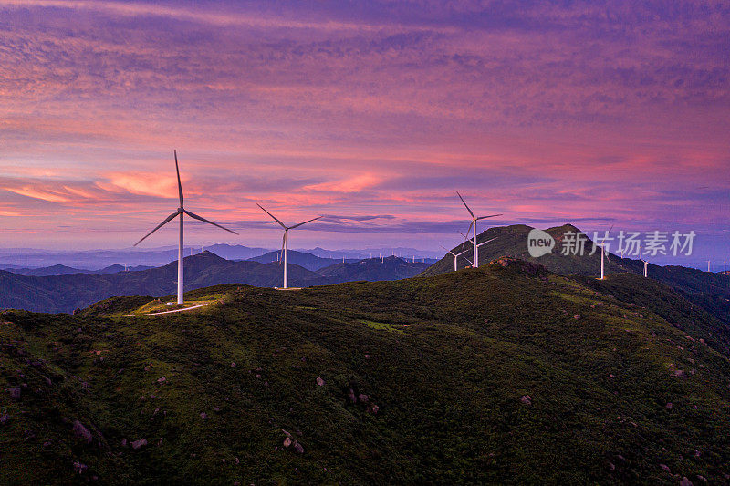
<path id="1" fill-rule="evenodd" d="M 296 254 L 296 253 L 295 253 Z M 300 253 L 301 254 L 301 253 Z M 312 259 L 318 259 L 310 255 Z M 298 258 L 299 256 L 297 256 Z M 322 260 L 322 259 L 318 259 Z M 396 257 L 358 264 L 329 265 L 313 272 L 289 263 L 289 284 L 312 286 L 350 280 L 395 280 L 421 273 L 427 264 L 412 264 Z M 282 284 L 282 267 L 253 260 L 226 260 L 204 251 L 188 256 L 185 263 L 185 291 L 217 284 L 249 284 L 274 287 Z M 372 267 L 381 268 L 377 271 Z M 330 270 L 331 269 L 331 270 Z M 99 300 L 118 295 L 172 295 L 177 285 L 177 262 L 135 272 L 90 273 L 59 265 L 37 275 L 17 274 L 17 269 L 0 271 L 0 308 L 41 312 L 72 312 Z M 44 274 L 45 273 L 45 274 Z"/>

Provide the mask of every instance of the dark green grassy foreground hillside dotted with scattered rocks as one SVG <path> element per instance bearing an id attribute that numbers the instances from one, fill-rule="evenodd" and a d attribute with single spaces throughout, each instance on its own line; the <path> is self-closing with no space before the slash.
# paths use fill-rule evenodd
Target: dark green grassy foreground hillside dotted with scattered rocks
<path id="1" fill-rule="evenodd" d="M 683 326 L 712 317 L 661 284 L 641 308 L 643 284 L 502 259 L 6 311 L 0 483 L 726 483 L 730 364 Z"/>

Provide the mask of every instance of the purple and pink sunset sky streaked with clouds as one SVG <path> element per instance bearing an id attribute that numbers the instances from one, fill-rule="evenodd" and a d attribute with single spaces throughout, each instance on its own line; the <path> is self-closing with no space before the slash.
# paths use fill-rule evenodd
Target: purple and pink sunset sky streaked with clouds
<path id="1" fill-rule="evenodd" d="M 461 191 L 722 257 L 728 52 L 720 1 L 0 0 L 0 247 L 130 246 L 177 208 L 176 149 L 187 209 L 241 233 L 196 244 L 276 247 L 259 202 L 325 216 L 294 247 L 433 250 Z"/>

